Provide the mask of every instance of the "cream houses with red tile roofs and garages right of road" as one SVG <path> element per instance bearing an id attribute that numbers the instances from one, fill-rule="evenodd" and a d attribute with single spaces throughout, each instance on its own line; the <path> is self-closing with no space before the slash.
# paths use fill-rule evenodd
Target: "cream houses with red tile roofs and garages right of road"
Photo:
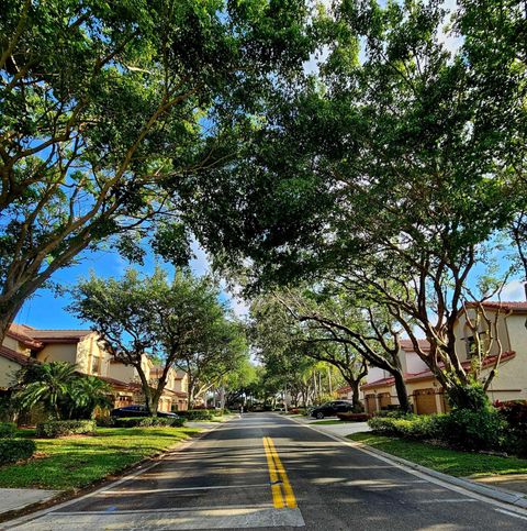
<path id="1" fill-rule="evenodd" d="M 455 327 L 456 352 L 466 368 L 474 355 L 479 340 L 489 349 L 482 374 L 487 374 L 500 355 L 500 367 L 489 387 L 487 395 L 494 400 L 527 399 L 527 302 L 485 302 L 485 318 L 476 322 L 475 306 L 460 312 Z M 481 312 L 479 312 L 481 314 Z M 419 340 L 422 350 L 428 349 L 426 340 Z M 418 414 L 446 412 L 448 403 L 444 389 L 426 364 L 416 354 L 410 340 L 401 341 L 401 365 L 408 397 Z M 389 373 L 371 367 L 367 381 L 361 386 L 368 412 L 397 405 L 393 378 Z"/>

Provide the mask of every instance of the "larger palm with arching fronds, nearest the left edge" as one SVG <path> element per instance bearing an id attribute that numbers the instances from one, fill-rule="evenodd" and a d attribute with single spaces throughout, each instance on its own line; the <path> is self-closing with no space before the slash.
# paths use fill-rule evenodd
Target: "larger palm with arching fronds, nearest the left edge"
<path id="1" fill-rule="evenodd" d="M 24 410 L 42 403 L 53 417 L 60 419 L 61 407 L 76 378 L 75 365 L 67 362 L 33 364 L 23 374 L 22 389 L 15 394 L 15 399 Z"/>

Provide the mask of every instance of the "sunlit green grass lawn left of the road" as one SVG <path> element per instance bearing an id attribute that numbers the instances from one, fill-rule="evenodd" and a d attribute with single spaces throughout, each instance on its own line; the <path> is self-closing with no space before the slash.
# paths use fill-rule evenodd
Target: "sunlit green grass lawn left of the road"
<path id="1" fill-rule="evenodd" d="M 22 464 L 0 467 L 0 487 L 58 490 L 83 487 L 199 431 L 192 428 L 98 428 L 94 436 L 35 439 L 35 456 Z M 31 436 L 34 431 L 23 430 L 21 434 Z"/>

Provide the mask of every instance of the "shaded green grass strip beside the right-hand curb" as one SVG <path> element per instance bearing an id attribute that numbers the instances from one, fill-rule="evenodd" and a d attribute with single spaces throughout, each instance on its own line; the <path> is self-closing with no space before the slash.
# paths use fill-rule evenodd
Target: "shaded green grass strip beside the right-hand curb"
<path id="1" fill-rule="evenodd" d="M 518 457 L 459 452 L 418 441 L 374 435 L 369 432 L 351 433 L 347 438 L 451 476 L 468 477 L 527 473 L 527 460 Z"/>

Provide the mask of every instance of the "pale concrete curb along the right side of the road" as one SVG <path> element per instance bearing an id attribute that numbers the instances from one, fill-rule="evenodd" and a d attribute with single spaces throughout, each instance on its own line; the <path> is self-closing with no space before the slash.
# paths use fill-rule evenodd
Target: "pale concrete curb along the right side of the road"
<path id="1" fill-rule="evenodd" d="M 369 454 L 378 455 L 383 460 L 393 462 L 397 465 L 403 466 L 404 468 L 417 471 L 421 474 L 434 477 L 436 479 L 441 480 L 442 483 L 453 485 L 456 487 L 461 487 L 464 490 L 483 496 L 485 498 L 490 498 L 495 501 L 501 501 L 502 504 L 507 504 L 507 505 L 517 507 L 519 509 L 527 509 L 527 497 L 523 493 L 516 493 L 514 490 L 504 490 L 500 487 L 490 487 L 486 485 L 480 485 L 470 479 L 453 477 L 448 474 L 444 474 L 442 472 L 433 471 L 431 468 L 428 468 L 426 466 L 418 465 L 417 463 L 413 463 L 411 461 L 404 460 L 403 457 L 397 457 L 396 455 L 389 454 L 386 452 L 383 452 L 382 450 L 378 450 L 373 446 L 369 446 L 368 444 L 351 441 L 350 439 L 347 439 L 343 435 L 338 435 L 336 433 L 325 432 L 318 428 L 315 428 L 313 424 L 302 422 L 300 420 L 292 419 L 292 418 L 290 420 L 292 420 L 293 422 L 296 422 L 300 425 L 304 425 L 314 431 L 317 431 L 318 433 L 333 438 L 335 440 L 343 441 L 351 447 L 356 447 L 357 450 L 360 450 Z"/>

